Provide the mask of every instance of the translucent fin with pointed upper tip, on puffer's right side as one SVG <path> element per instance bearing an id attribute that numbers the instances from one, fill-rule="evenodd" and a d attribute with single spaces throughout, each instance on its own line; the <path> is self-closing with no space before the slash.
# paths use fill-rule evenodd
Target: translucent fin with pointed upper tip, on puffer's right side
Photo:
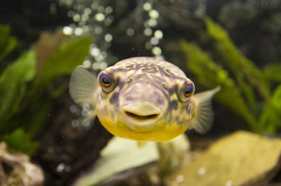
<path id="1" fill-rule="evenodd" d="M 210 91 L 195 94 L 195 116 L 191 121 L 189 129 L 197 133 L 206 133 L 213 124 L 214 113 L 211 108 L 211 98 L 221 90 L 218 86 Z"/>

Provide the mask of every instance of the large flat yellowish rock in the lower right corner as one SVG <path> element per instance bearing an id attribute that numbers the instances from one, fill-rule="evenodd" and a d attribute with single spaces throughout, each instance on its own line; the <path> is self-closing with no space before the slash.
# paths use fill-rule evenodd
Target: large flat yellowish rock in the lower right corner
<path id="1" fill-rule="evenodd" d="M 266 185 L 280 169 L 281 140 L 237 131 L 218 140 L 166 185 Z"/>

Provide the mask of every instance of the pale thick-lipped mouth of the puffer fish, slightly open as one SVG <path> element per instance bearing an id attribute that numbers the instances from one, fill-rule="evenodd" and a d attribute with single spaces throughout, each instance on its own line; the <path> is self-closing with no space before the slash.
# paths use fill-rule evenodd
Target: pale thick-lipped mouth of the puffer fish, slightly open
<path id="1" fill-rule="evenodd" d="M 121 113 L 126 126 L 136 132 L 151 131 L 163 116 L 163 110 L 150 102 L 123 105 Z"/>

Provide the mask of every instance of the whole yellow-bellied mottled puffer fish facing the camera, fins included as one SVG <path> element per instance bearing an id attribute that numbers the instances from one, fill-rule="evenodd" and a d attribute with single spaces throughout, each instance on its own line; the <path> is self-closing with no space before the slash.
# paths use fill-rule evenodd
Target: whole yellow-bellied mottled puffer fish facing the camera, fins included
<path id="1" fill-rule="evenodd" d="M 98 77 L 79 66 L 70 79 L 74 102 L 89 103 L 91 117 L 113 135 L 137 141 L 171 140 L 187 128 L 207 132 L 219 90 L 194 95 L 195 85 L 179 67 L 149 57 L 121 60 Z"/>

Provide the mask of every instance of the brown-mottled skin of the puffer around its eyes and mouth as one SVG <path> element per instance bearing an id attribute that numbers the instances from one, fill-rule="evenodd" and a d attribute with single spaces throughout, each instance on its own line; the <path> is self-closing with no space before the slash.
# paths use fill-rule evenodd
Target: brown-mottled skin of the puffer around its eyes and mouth
<path id="1" fill-rule="evenodd" d="M 179 86 L 190 80 L 175 65 L 157 58 L 129 58 L 108 67 L 105 72 L 112 74 L 117 86 L 110 93 L 98 89 L 96 109 L 100 118 L 118 121 L 120 102 L 149 100 L 164 107 L 163 125 L 176 124 L 186 129 L 190 124 L 194 114 L 193 99 L 181 102 L 177 95 Z"/>

